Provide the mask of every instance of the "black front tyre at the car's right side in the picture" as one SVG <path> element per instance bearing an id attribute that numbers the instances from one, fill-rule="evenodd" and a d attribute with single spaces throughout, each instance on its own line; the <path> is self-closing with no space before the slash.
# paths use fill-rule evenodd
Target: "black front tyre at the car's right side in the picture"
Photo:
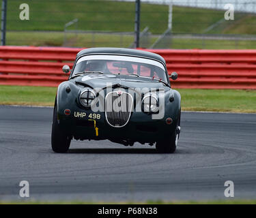
<path id="1" fill-rule="evenodd" d="M 168 136 L 167 136 L 168 137 Z M 174 153 L 177 146 L 177 132 L 174 131 L 170 138 L 156 142 L 158 153 Z"/>

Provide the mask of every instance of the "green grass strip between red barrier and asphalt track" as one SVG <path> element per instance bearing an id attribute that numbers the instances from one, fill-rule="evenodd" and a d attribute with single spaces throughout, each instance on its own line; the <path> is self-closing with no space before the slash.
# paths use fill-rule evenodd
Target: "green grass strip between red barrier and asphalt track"
<path id="1" fill-rule="evenodd" d="M 53 106 L 57 88 L 0 85 L 0 104 Z M 182 110 L 256 112 L 256 91 L 178 89 Z"/>

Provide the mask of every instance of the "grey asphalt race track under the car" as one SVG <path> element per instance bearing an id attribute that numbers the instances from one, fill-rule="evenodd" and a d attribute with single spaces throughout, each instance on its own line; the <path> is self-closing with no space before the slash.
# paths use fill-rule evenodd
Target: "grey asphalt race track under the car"
<path id="1" fill-rule="evenodd" d="M 256 198 L 256 114 L 182 113 L 175 154 L 154 146 L 75 141 L 51 151 L 53 108 L 0 106 L 0 200 L 218 200 Z M 168 137 L 168 136 L 167 136 Z"/>

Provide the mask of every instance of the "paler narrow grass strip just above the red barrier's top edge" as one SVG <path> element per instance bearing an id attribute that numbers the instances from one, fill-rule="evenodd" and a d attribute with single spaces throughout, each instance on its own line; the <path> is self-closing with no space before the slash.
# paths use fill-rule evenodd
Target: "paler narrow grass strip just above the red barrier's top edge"
<path id="1" fill-rule="evenodd" d="M 16 46 L 68 46 L 68 47 L 128 47 L 132 44 L 133 35 L 104 34 L 104 33 L 67 33 L 64 44 L 63 33 L 38 33 L 38 32 L 8 32 L 7 45 Z M 150 38 L 153 44 L 157 37 Z M 165 47 L 166 48 L 166 47 Z M 256 41 L 234 40 L 195 40 L 173 39 L 170 48 L 207 48 L 207 49 L 256 49 Z"/>

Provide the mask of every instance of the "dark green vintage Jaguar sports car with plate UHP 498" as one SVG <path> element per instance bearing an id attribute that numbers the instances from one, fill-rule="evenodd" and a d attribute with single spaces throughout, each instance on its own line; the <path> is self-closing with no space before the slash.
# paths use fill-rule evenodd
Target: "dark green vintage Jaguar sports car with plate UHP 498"
<path id="1" fill-rule="evenodd" d="M 71 71 L 71 72 L 70 72 Z M 180 93 L 171 89 L 165 60 L 152 52 L 89 48 L 76 55 L 59 84 L 53 112 L 53 151 L 75 140 L 111 140 L 125 146 L 156 144 L 173 153 L 180 137 Z"/>

